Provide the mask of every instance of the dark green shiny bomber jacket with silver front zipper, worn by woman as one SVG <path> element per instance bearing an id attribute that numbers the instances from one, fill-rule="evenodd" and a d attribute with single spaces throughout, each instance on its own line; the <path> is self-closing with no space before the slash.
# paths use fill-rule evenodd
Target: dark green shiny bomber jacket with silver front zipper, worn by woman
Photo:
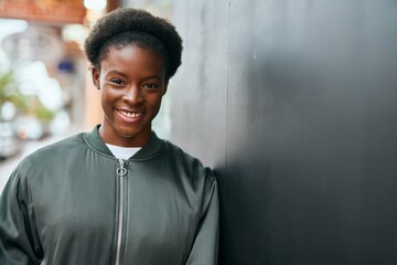
<path id="1" fill-rule="evenodd" d="M 213 171 L 154 132 L 128 160 L 98 132 L 28 156 L 0 199 L 0 265 L 213 265 Z"/>

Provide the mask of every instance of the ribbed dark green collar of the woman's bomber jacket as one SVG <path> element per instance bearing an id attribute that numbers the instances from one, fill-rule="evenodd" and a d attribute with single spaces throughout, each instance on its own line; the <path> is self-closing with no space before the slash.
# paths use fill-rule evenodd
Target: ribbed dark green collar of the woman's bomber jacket
<path id="1" fill-rule="evenodd" d="M 86 139 L 87 144 L 94 148 L 95 150 L 108 155 L 114 156 L 109 148 L 106 146 L 105 141 L 99 135 L 99 127 L 100 125 L 95 126 L 95 128 L 84 134 L 84 138 Z M 164 141 L 161 140 L 154 131 L 151 132 L 151 137 L 148 144 L 146 144 L 137 153 L 135 153 L 130 159 L 147 159 L 160 151 Z"/>

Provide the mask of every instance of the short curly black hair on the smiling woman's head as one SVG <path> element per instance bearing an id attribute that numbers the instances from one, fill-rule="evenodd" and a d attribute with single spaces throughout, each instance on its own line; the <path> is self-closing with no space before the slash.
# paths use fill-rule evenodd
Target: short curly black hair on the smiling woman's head
<path id="1" fill-rule="evenodd" d="M 94 25 L 84 47 L 93 66 L 100 68 L 100 62 L 110 46 L 121 49 L 129 44 L 149 47 L 167 62 L 167 80 L 171 78 L 181 65 L 182 39 L 164 19 L 132 8 L 119 8 L 103 17 Z"/>

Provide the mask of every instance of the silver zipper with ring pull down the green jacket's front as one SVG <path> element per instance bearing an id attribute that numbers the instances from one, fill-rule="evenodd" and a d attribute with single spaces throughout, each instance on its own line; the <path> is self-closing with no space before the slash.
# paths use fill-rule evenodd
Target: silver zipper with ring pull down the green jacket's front
<path id="1" fill-rule="evenodd" d="M 116 265 L 120 264 L 121 257 L 121 243 L 122 243 L 122 223 L 124 223 L 124 208 L 125 208 L 125 176 L 127 174 L 127 169 L 125 168 L 125 160 L 118 159 L 119 167 L 116 170 L 119 180 L 119 208 L 118 208 L 118 230 L 117 230 L 117 245 L 116 245 Z"/>

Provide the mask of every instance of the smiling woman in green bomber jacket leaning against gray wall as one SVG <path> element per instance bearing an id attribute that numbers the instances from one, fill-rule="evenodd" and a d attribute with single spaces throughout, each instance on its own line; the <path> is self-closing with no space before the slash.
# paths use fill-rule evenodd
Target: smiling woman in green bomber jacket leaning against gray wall
<path id="1" fill-rule="evenodd" d="M 174 26 L 118 9 L 85 51 L 103 123 L 13 171 L 0 201 L 0 264 L 216 264 L 216 180 L 151 130 L 181 64 Z"/>

